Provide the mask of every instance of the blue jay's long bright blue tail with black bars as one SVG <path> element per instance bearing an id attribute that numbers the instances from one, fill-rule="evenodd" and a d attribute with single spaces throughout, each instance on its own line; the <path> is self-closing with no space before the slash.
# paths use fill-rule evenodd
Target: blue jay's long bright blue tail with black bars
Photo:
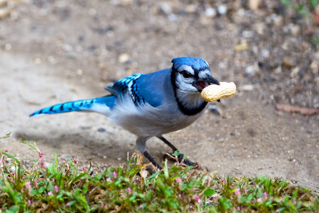
<path id="1" fill-rule="evenodd" d="M 79 101 L 71 101 L 66 103 L 59 103 L 53 106 L 49 106 L 33 112 L 31 116 L 39 114 L 55 114 L 63 112 L 72 112 L 72 111 L 90 111 L 94 103 L 105 104 L 107 107 L 111 108 L 114 105 L 116 97 L 114 95 L 103 96 L 100 98 L 85 99 Z"/>

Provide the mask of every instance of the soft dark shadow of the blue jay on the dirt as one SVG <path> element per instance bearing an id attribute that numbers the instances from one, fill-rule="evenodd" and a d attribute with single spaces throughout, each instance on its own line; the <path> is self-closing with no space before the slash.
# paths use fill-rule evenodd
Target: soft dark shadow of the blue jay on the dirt
<path id="1" fill-rule="evenodd" d="M 92 134 L 80 131 L 71 133 L 70 131 L 58 130 L 54 134 L 52 132 L 29 133 L 18 131 L 13 136 L 18 140 L 35 141 L 42 152 L 45 152 L 45 149 L 50 149 L 54 150 L 58 156 L 79 156 L 81 158 L 92 158 L 94 156 L 94 159 L 99 162 L 121 163 L 121 160 L 127 158 L 127 152 L 133 154 L 137 151 L 136 138 L 129 136 L 121 139 L 119 135 L 110 132 L 97 132 L 96 134 L 103 135 L 102 137 L 94 137 L 94 134 L 92 136 Z M 160 160 L 163 159 L 163 154 L 159 150 L 163 149 L 165 145 L 159 145 L 158 143 L 149 144 L 148 147 L 153 153 L 152 156 Z M 104 159 L 105 156 L 107 156 L 107 159 Z M 146 158 L 145 163 L 148 163 Z"/>

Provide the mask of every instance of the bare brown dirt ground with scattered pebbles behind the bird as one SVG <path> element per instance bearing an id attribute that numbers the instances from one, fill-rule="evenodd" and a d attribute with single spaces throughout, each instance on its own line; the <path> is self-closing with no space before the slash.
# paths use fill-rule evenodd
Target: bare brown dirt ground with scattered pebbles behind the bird
<path id="1" fill-rule="evenodd" d="M 9 12 L 0 19 L 0 136 L 11 137 L 0 147 L 26 164 L 37 153 L 22 139 L 35 140 L 48 161 L 56 152 L 59 161 L 78 156 L 83 166 L 87 158 L 96 167 L 122 164 L 136 137 L 106 117 L 29 114 L 106 95 L 114 80 L 196 56 L 238 90 L 216 104 L 220 115 L 207 110 L 168 140 L 221 175 L 279 176 L 318 192 L 319 114 L 276 109 L 319 108 L 319 52 L 309 41 L 317 28 L 277 1 L 262 1 L 258 11 L 241 2 L 1 1 Z M 170 151 L 158 139 L 147 148 L 158 162 Z"/>

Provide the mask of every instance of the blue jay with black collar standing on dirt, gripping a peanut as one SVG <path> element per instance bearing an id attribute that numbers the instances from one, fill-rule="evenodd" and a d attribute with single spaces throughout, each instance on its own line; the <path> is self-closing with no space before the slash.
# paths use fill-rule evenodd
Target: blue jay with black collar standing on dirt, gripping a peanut
<path id="1" fill-rule="evenodd" d="M 105 87 L 111 95 L 56 104 L 30 116 L 71 111 L 106 115 L 116 125 L 137 135 L 138 150 L 160 169 L 146 151 L 146 141 L 156 136 L 176 151 L 162 135 L 183 129 L 199 118 L 209 105 L 200 96 L 202 89 L 219 85 L 211 76 L 208 63 L 201 58 L 179 57 L 172 63 L 169 69 L 133 74 Z M 195 165 L 188 159 L 184 163 Z"/>

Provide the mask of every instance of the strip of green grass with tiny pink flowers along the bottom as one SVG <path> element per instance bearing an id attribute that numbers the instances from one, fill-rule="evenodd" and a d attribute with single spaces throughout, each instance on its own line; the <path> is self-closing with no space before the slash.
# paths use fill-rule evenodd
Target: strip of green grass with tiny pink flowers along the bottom
<path id="1" fill-rule="evenodd" d="M 27 143 L 22 141 L 22 143 Z M 27 143 L 29 144 L 29 143 Z M 282 179 L 225 177 L 173 165 L 148 172 L 143 156 L 102 171 L 80 168 L 77 159 L 30 168 L 1 151 L 0 209 L 3 212 L 300 212 L 319 210 L 309 190 Z M 4 164 L 4 157 L 13 159 Z"/>

